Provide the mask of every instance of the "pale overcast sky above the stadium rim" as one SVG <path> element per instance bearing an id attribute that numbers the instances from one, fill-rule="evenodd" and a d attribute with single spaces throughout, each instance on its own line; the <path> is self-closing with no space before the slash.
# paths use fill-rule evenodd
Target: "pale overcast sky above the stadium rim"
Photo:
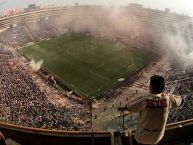
<path id="1" fill-rule="evenodd" d="M 38 5 L 60 4 L 73 5 L 78 2 L 80 5 L 128 5 L 129 3 L 143 4 L 144 7 L 154 9 L 170 8 L 171 11 L 193 16 L 193 0 L 0 0 L 0 12 L 10 8 L 23 8 L 28 4 Z"/>

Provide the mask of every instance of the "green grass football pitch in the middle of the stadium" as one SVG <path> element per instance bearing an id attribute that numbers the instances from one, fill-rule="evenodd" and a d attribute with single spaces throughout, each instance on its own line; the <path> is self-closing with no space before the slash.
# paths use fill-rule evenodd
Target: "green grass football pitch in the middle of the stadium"
<path id="1" fill-rule="evenodd" d="M 43 67 L 85 96 L 100 95 L 154 58 L 151 53 L 81 34 L 64 35 L 21 51 L 29 59 L 42 59 Z"/>

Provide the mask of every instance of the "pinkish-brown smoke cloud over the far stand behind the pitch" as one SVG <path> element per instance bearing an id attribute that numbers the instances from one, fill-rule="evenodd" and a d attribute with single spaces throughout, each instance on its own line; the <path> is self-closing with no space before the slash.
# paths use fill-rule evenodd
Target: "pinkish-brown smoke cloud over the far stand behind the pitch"
<path id="1" fill-rule="evenodd" d="M 88 32 L 99 38 L 120 40 L 145 49 L 148 49 L 152 33 L 139 18 L 122 7 L 72 8 L 54 23 L 59 33 L 65 26 L 74 33 Z"/>

